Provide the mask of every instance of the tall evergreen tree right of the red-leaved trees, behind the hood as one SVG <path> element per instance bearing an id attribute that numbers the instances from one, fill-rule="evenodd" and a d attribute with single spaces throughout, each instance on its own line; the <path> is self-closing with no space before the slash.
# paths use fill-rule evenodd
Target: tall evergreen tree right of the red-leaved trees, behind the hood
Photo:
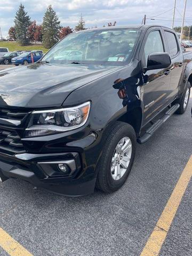
<path id="1" fill-rule="evenodd" d="M 51 48 L 59 41 L 59 32 L 61 29 L 59 18 L 52 6 L 49 5 L 43 17 L 43 45 Z"/>

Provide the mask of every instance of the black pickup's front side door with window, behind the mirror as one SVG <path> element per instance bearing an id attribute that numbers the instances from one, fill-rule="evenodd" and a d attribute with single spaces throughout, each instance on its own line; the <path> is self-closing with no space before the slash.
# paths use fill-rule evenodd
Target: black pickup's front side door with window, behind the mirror
<path id="1" fill-rule="evenodd" d="M 161 28 L 151 29 L 145 35 L 142 52 L 142 70 L 147 66 L 151 53 L 166 52 Z M 143 125 L 148 123 L 165 106 L 171 79 L 171 70 L 153 69 L 143 75 Z"/>

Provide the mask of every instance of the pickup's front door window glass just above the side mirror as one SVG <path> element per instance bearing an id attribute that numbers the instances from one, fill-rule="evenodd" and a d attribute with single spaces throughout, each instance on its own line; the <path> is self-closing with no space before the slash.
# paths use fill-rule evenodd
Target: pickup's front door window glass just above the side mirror
<path id="1" fill-rule="evenodd" d="M 145 55 L 143 56 L 143 61 L 146 61 L 145 65 L 147 65 L 147 59 L 149 54 L 155 52 L 164 52 L 161 34 L 158 30 L 150 32 L 147 37 L 143 52 L 143 54 Z"/>

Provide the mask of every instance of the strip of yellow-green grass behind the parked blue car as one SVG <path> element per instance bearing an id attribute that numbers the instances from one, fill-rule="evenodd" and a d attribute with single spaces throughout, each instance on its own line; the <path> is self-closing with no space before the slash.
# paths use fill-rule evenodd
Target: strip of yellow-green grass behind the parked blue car
<path id="1" fill-rule="evenodd" d="M 10 52 L 13 51 L 33 51 L 33 50 L 42 50 L 43 53 L 46 53 L 49 49 L 46 49 L 42 44 L 29 44 L 26 46 L 19 46 L 16 42 L 7 42 L 7 41 L 0 41 L 0 47 L 9 48 Z"/>

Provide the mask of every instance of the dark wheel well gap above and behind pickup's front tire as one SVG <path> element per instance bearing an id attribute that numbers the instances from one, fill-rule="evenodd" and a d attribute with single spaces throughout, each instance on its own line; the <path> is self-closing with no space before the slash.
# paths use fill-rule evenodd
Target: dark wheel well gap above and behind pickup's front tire
<path id="1" fill-rule="evenodd" d="M 134 108 L 131 111 L 127 112 L 120 118 L 118 118 L 117 121 L 125 122 L 127 124 L 130 124 L 133 129 L 135 130 L 136 135 L 138 136 L 141 129 L 141 121 L 142 121 L 142 111 L 141 108 Z"/>

